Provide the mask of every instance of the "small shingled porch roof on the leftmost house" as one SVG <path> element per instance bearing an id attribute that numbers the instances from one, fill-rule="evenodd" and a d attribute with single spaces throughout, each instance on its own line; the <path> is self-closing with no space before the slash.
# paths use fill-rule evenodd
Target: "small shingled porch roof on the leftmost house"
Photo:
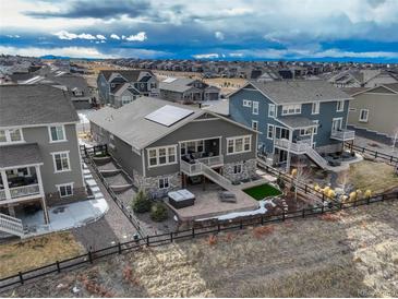
<path id="1" fill-rule="evenodd" d="M 0 146 L 0 168 L 43 163 L 37 143 Z"/>

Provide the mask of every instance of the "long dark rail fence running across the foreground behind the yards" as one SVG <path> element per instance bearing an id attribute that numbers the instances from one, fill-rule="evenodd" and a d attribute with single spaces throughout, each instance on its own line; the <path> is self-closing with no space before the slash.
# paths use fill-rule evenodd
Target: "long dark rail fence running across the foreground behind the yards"
<path id="1" fill-rule="evenodd" d="M 107 247 L 96 251 L 88 251 L 87 253 L 82 255 L 77 255 L 63 261 L 56 261 L 52 264 L 48 264 L 25 272 L 20 272 L 15 275 L 1 278 L 0 289 L 13 287 L 16 285 L 23 285 L 26 282 L 33 280 L 35 278 L 39 278 L 53 273 L 61 273 L 64 271 L 76 268 L 79 266 L 83 266 L 85 264 L 93 264 L 95 261 L 104 259 L 106 256 L 122 254 L 123 252 L 131 250 L 137 250 L 143 246 L 148 246 L 148 247 L 162 246 L 178 240 L 194 239 L 200 236 L 210 236 L 220 231 L 238 230 L 249 226 L 251 227 L 263 226 L 272 223 L 281 223 L 289 219 L 307 218 L 311 216 L 335 213 L 346 208 L 357 207 L 361 205 L 369 205 L 372 203 L 396 200 L 396 199 L 398 199 L 397 191 L 385 194 L 378 194 L 372 198 L 360 199 L 354 202 L 348 202 L 348 203 L 341 202 L 331 205 L 322 205 L 312 208 L 302 208 L 300 211 L 293 211 L 293 212 L 284 211 L 282 213 L 274 215 L 263 214 L 255 216 L 246 216 L 234 220 L 218 220 L 218 223 L 214 225 L 192 227 L 191 229 L 162 234 L 162 235 L 146 236 L 137 240 L 118 243 L 116 246 Z"/>

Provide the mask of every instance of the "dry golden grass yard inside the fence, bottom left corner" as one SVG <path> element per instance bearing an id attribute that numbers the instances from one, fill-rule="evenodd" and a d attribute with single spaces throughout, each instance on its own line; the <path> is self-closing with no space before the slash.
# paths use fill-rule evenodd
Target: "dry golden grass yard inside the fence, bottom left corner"
<path id="1" fill-rule="evenodd" d="M 79 255 L 84 248 L 71 232 L 0 244 L 0 278 Z"/>

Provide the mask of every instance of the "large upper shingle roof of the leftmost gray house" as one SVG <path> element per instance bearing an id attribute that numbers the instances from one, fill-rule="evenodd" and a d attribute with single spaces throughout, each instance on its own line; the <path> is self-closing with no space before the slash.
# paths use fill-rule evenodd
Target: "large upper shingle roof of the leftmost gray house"
<path id="1" fill-rule="evenodd" d="M 0 127 L 77 122 L 68 93 L 44 84 L 0 86 Z"/>

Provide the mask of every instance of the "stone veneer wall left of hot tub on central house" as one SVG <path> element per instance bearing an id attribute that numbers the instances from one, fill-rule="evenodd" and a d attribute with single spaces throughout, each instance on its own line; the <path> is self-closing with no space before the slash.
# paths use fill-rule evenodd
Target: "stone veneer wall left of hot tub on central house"
<path id="1" fill-rule="evenodd" d="M 143 177 L 137 171 L 133 170 L 133 180 L 135 186 L 138 189 L 145 190 L 147 193 L 158 192 L 159 189 L 159 179 L 169 178 L 169 188 L 166 191 L 170 191 L 171 189 L 179 188 L 181 189 L 181 177 L 180 172 L 170 174 L 167 176 L 157 176 L 157 177 Z M 165 189 L 162 189 L 165 191 Z"/>

